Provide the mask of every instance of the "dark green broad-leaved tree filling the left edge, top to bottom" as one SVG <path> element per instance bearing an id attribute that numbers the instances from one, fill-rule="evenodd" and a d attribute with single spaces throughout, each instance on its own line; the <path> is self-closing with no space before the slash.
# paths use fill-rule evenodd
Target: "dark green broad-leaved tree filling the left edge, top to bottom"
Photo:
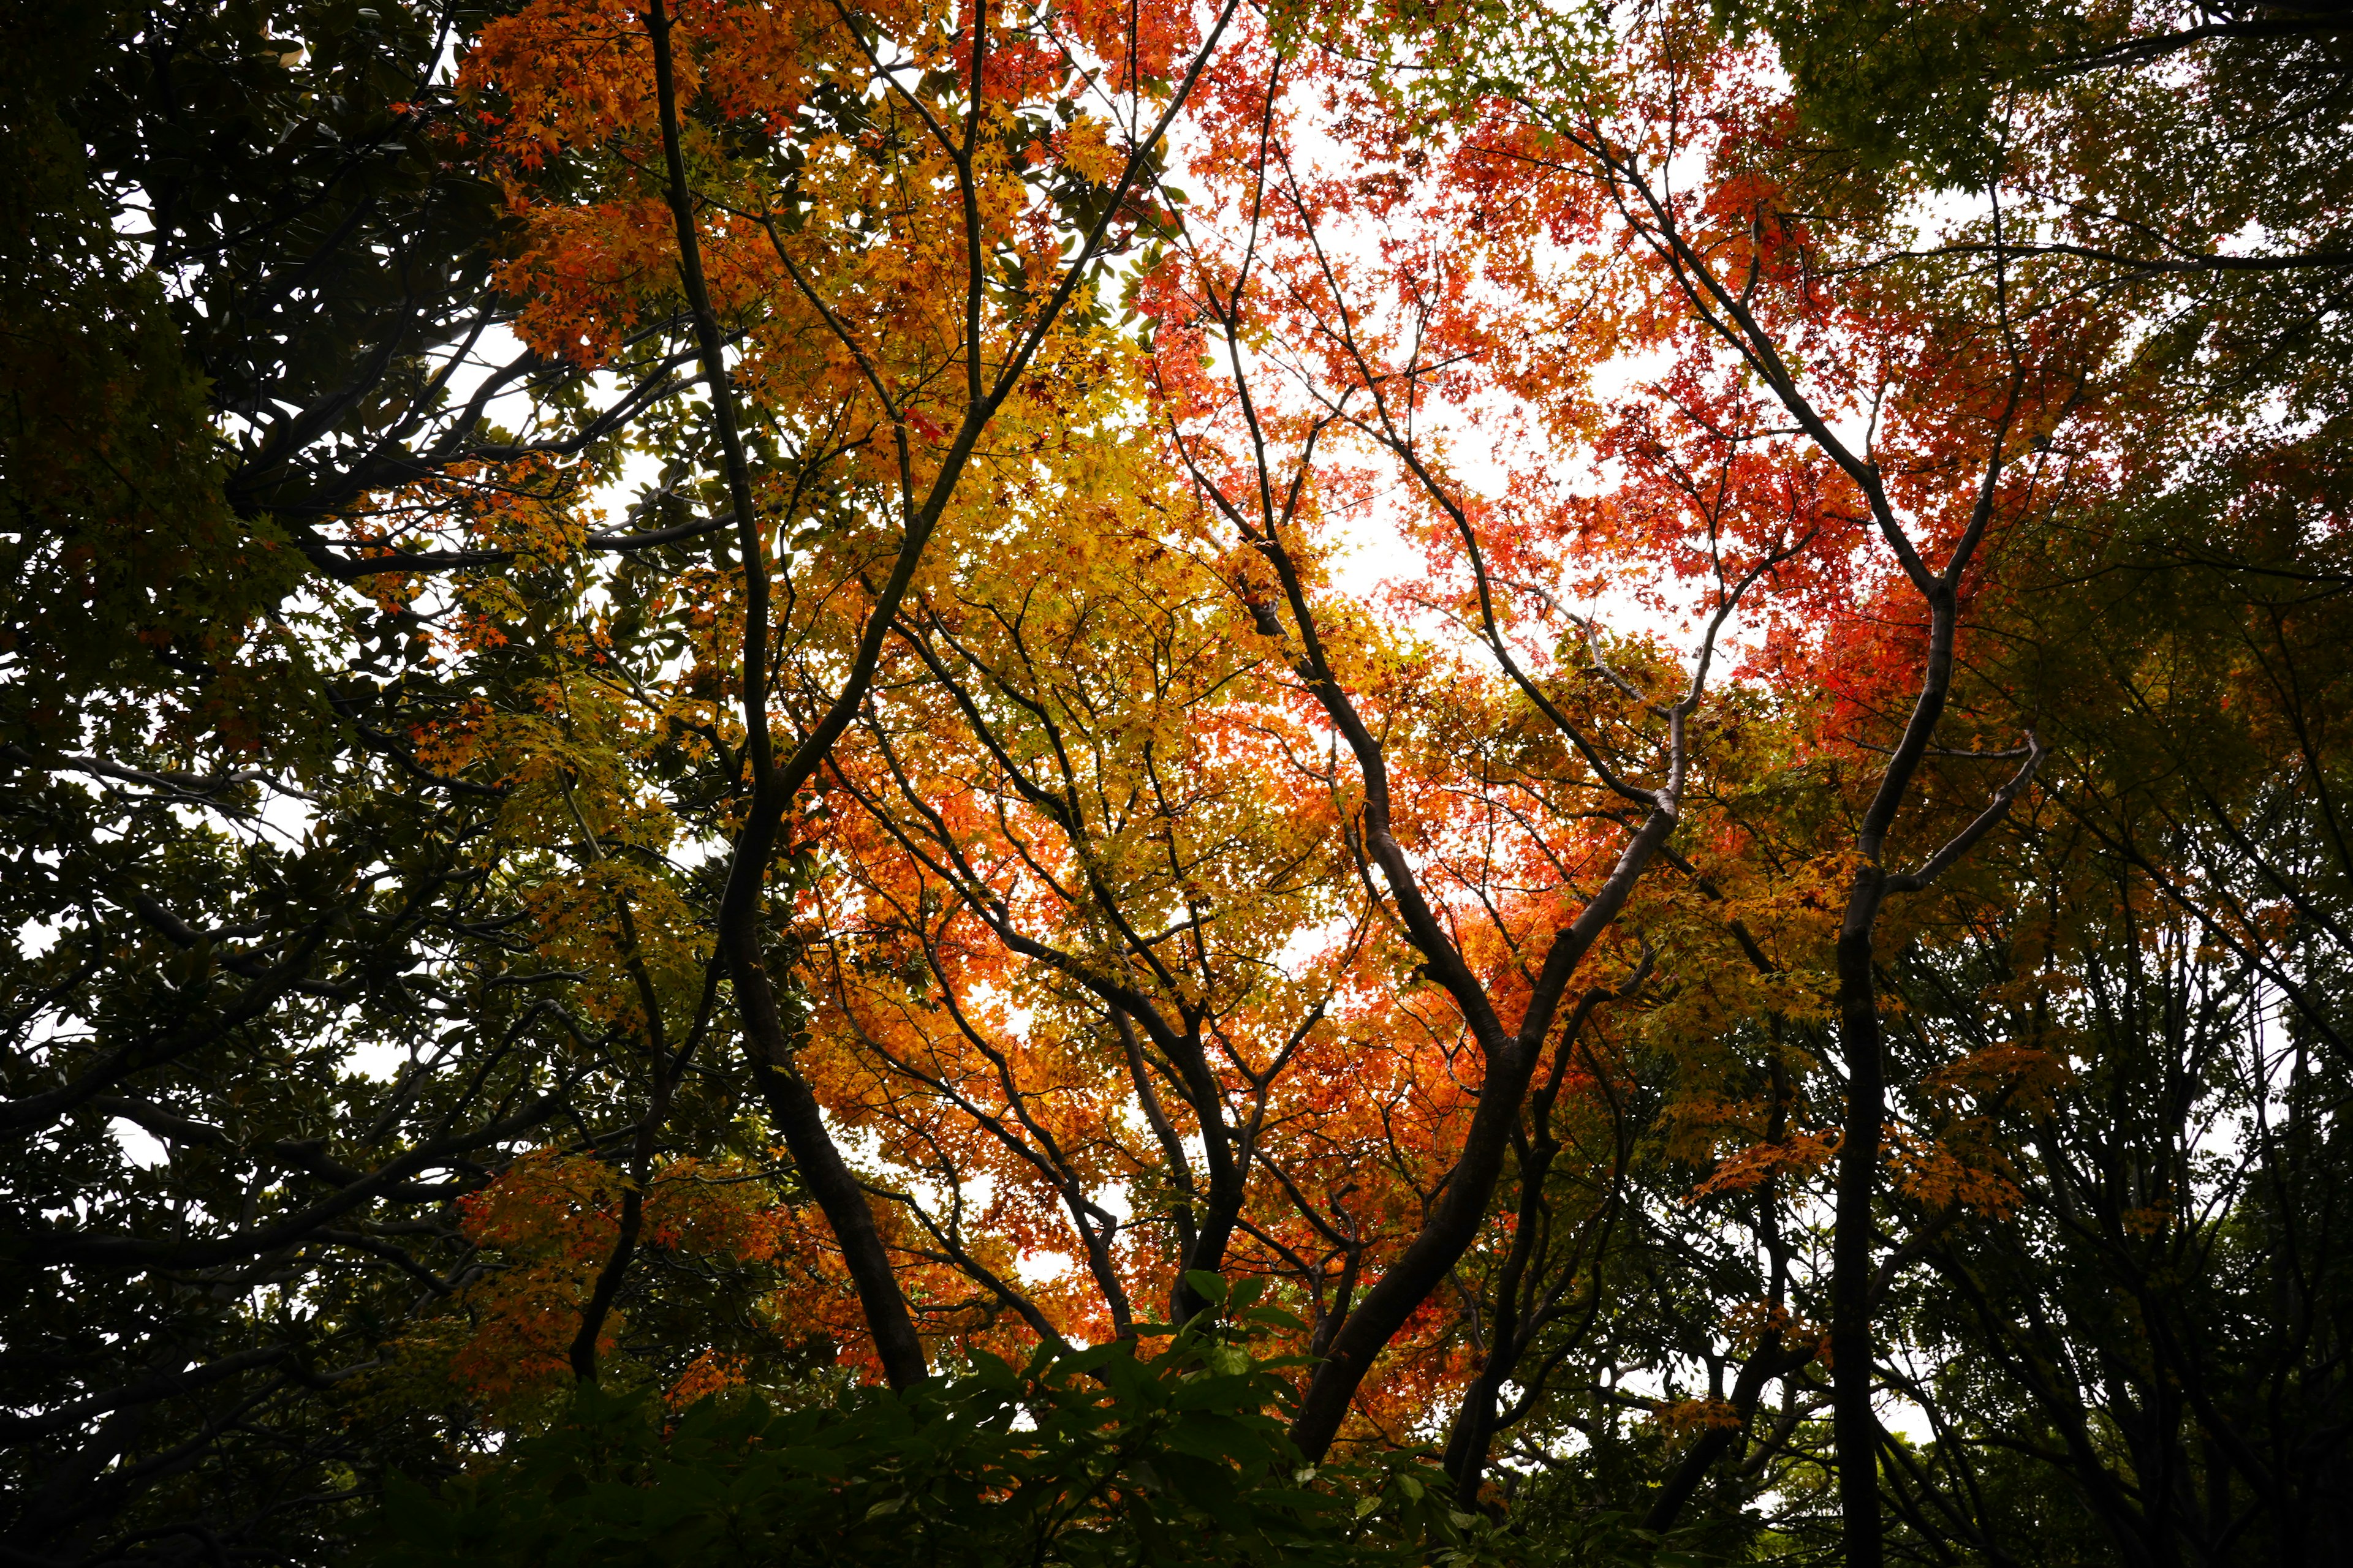
<path id="1" fill-rule="evenodd" d="M 579 1077 L 565 1013 L 468 931 L 504 914 L 482 799 L 419 785 L 369 722 L 400 628 L 369 651 L 372 614 L 299 595 L 306 559 L 348 576 L 320 527 L 372 475 L 487 456 L 480 407 L 445 397 L 494 237 L 435 141 L 431 63 L 464 24 L 78 7 L 7 66 L 28 1552 L 188 1540 L 207 1490 L 231 1540 L 301 1549 L 318 1512 L 271 1502 L 289 1479 L 332 1512 L 336 1462 L 412 1441 L 355 1443 L 336 1403 L 384 1305 L 464 1267 L 445 1175 Z M 358 1046 L 391 1070 L 355 1072 Z M 169 1166 L 125 1159 L 111 1119 Z"/>

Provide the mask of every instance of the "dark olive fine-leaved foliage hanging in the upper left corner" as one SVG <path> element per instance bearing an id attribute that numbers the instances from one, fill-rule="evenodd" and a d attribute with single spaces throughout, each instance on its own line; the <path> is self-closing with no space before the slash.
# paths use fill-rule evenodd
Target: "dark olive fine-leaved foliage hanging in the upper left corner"
<path id="1" fill-rule="evenodd" d="M 35 7 L 0 61 L 0 745 L 80 741 L 96 686 L 153 686 L 162 658 L 231 665 L 301 559 L 233 515 L 228 447 L 146 256 L 66 120 L 101 61 L 104 12 Z M 252 679 L 207 691 L 238 724 Z"/>

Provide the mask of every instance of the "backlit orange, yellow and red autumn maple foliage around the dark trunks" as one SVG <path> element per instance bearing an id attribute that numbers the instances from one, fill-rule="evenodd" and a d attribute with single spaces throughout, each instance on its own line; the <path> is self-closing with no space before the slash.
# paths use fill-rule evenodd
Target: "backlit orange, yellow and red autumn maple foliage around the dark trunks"
<path id="1" fill-rule="evenodd" d="M 1852 813 L 1927 625 L 1901 550 L 1941 557 L 1965 536 L 1979 491 L 1955 475 L 1977 473 L 1988 430 L 2026 451 L 2097 416 L 2078 407 L 2082 364 L 2108 343 L 2087 310 L 2047 310 L 2019 350 L 1981 310 L 1840 270 L 1838 235 L 1786 212 L 1795 127 L 1755 54 L 1668 73 L 1687 40 L 1642 33 L 1614 120 L 1478 106 L 1428 122 L 1351 56 L 1285 56 L 1238 26 L 1184 125 L 1193 200 L 1155 190 L 1115 214 L 1144 247 L 1134 317 L 1108 299 L 1073 313 L 991 414 L 873 696 L 798 804 L 795 870 L 772 877 L 776 964 L 809 1006 L 791 1067 L 885 1194 L 878 1222 L 939 1349 L 1129 1333 L 1172 1307 L 1209 1225 L 1231 1227 L 1217 1267 L 1282 1281 L 1313 1347 L 1457 1171 L 1497 1060 L 1464 997 L 1494 1034 L 1518 1030 L 1553 985 L 1548 945 L 1671 790 L 1673 872 L 1602 922 L 1577 985 L 1645 978 L 1626 1027 L 1673 1058 L 1657 1114 L 1671 1154 L 1706 1171 L 1692 1199 L 1819 1192 L 1831 1091 L 1758 1041 L 1831 1018 Z M 1071 214 L 1148 153 L 1087 94 L 1165 87 L 1198 45 L 1176 5 L 678 12 L 704 266 L 751 428 L 781 454 L 755 489 L 781 562 L 784 708 L 835 686 L 875 562 L 976 416 L 967 334 L 1014 341 Z M 680 308 L 642 26 L 532 0 L 464 73 L 468 136 L 518 226 L 518 329 L 607 364 Z M 986 132 L 969 172 L 944 150 L 958 115 Z M 1675 158 L 1701 179 L 1642 207 L 1624 169 Z M 967 294 L 974 256 L 993 282 Z M 1732 306 L 1694 270 L 1744 280 L 1774 362 L 1727 348 Z M 1821 430 L 1791 423 L 1767 371 L 1802 381 Z M 1868 428 L 1868 473 L 1835 456 L 1831 423 Z M 2099 480 L 2097 463 L 2012 465 L 1991 487 L 1995 543 L 2031 496 Z M 701 503 L 718 494 L 706 482 Z M 522 498 L 468 527 L 551 564 L 581 538 Z M 1372 588 L 1353 559 L 1367 536 L 1391 541 Z M 579 825 L 666 853 L 680 830 L 647 759 L 734 778 L 744 745 L 727 548 L 633 578 L 675 630 L 661 679 L 609 672 L 598 630 L 576 639 L 579 679 L 454 715 L 419 736 L 424 759 L 511 783 L 518 837 Z M 494 649 L 513 607 L 485 588 L 466 609 L 464 651 Z M 1372 745 L 1409 889 L 1367 842 Z M 1929 792 L 1929 813 L 1962 797 Z M 732 832 L 736 785 L 713 799 L 704 825 Z M 1461 978 L 1409 931 L 1409 898 Z M 661 914 L 647 929 L 692 926 L 621 870 L 527 900 L 551 954 L 609 983 L 600 1023 L 635 1018 L 624 971 L 647 952 L 675 997 L 699 973 L 692 940 L 616 936 L 628 900 Z M 1539 1034 L 1537 1056 L 1569 1048 Z M 1565 1074 L 1558 1114 L 1619 1114 L 1626 1060 Z M 2012 1051 L 1929 1088 L 2054 1081 Z M 1212 1145 L 1235 1161 L 1231 1192 Z M 1586 1159 L 1577 1175 L 1607 1185 Z M 1889 1164 L 1927 1208 L 2017 1204 L 1974 1121 L 1899 1131 Z M 616 1180 L 539 1157 L 468 1208 L 468 1234 L 513 1258 L 468 1298 L 482 1328 L 459 1375 L 485 1396 L 560 1368 Z M 816 1284 L 795 1324 L 866 1356 L 809 1215 L 708 1192 L 664 1166 L 649 1246 L 800 1269 Z M 1513 1234 L 1489 1220 L 1471 1258 Z M 1461 1302 L 1431 1293 L 1358 1418 L 1407 1429 L 1475 1363 Z M 706 1354 L 675 1396 L 732 1375 Z M 1673 1432 L 1720 1418 L 1659 1413 Z"/>

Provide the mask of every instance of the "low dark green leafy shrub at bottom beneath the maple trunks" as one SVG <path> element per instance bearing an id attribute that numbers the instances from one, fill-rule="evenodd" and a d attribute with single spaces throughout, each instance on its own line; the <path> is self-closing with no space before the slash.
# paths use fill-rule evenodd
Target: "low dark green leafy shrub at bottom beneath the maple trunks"
<path id="1" fill-rule="evenodd" d="M 1235 1291 L 1235 1324 L 1287 1316 L 1254 1295 Z M 1278 1418 L 1297 1366 L 1205 1314 L 1144 1342 L 1040 1347 L 1026 1366 L 976 1352 L 969 1373 L 904 1396 L 852 1387 L 805 1408 L 744 1392 L 671 1420 L 652 1399 L 584 1387 L 548 1432 L 438 1497 L 393 1481 L 365 1561 L 1494 1561 L 1492 1526 L 1449 1512 L 1433 1469 L 1304 1467 Z"/>

